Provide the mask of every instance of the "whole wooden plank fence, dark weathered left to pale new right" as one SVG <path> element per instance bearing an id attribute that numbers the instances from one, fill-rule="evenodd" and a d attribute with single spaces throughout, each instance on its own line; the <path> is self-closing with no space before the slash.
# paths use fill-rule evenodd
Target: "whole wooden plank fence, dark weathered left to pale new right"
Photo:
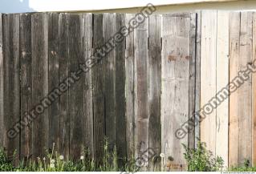
<path id="1" fill-rule="evenodd" d="M 55 143 L 78 158 L 103 156 L 104 137 L 120 158 L 173 156 L 197 137 L 226 165 L 256 162 L 254 74 L 183 139 L 175 132 L 251 64 L 253 12 L 203 10 L 152 14 L 14 139 L 7 131 L 108 42 L 135 14 L 0 15 L 0 145 L 18 158 L 43 156 Z M 104 49 L 108 49 L 105 47 Z M 159 161 L 143 170 L 160 167 Z"/>

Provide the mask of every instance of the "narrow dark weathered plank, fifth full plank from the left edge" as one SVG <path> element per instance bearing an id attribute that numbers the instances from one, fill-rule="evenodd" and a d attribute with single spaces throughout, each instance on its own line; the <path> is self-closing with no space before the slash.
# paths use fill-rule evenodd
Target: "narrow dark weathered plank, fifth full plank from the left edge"
<path id="1" fill-rule="evenodd" d="M 59 82 L 63 82 L 69 73 L 68 51 L 68 15 L 59 14 Z M 69 157 L 70 115 L 68 89 L 59 97 L 59 152 Z"/>

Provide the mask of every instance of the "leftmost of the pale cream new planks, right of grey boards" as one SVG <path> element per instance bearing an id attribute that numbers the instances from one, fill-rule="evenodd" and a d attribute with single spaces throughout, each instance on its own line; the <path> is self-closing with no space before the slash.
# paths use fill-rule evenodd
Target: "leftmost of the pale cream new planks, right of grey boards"
<path id="1" fill-rule="evenodd" d="M 201 107 L 216 94 L 217 10 L 201 12 Z M 210 112 L 210 113 L 209 113 Z M 216 111 L 209 111 L 201 121 L 201 141 L 216 152 Z"/>

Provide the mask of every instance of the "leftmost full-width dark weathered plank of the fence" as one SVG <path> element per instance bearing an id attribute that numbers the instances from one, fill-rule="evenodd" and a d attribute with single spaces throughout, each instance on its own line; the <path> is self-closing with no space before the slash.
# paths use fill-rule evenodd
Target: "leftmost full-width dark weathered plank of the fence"
<path id="1" fill-rule="evenodd" d="M 20 83 L 19 83 L 19 14 L 4 15 L 3 18 L 4 53 L 4 140 L 3 145 L 8 156 L 16 151 L 15 164 L 19 158 L 19 127 L 13 127 L 20 119 Z M 10 137 L 10 128 L 14 128 L 14 137 Z"/>

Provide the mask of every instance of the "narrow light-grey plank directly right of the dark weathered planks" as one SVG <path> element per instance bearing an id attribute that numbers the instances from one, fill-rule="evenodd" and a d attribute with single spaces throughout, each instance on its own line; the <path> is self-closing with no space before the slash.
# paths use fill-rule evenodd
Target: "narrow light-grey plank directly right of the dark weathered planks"
<path id="1" fill-rule="evenodd" d="M 129 21 L 134 14 L 125 15 L 125 26 L 129 28 Z M 126 98 L 126 141 L 127 157 L 132 160 L 135 156 L 135 118 L 134 118 L 134 32 L 129 31 L 126 37 L 125 50 L 125 98 Z"/>

